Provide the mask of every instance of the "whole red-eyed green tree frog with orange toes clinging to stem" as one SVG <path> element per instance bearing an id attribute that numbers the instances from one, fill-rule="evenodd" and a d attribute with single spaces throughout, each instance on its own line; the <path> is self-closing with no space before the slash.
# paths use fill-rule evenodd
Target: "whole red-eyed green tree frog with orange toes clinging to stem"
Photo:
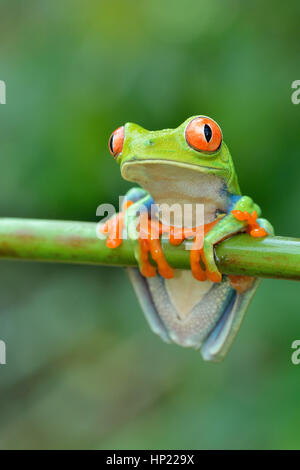
<path id="1" fill-rule="evenodd" d="M 158 131 L 129 122 L 112 133 L 109 151 L 121 176 L 137 186 L 101 233 L 110 249 L 125 236 L 133 244 L 138 267 L 127 270 L 151 329 L 167 343 L 199 350 L 204 360 L 223 360 L 260 279 L 221 273 L 215 246 L 243 232 L 272 236 L 274 229 L 241 193 L 221 127 L 205 115 Z M 188 207 L 187 217 L 171 220 L 163 205 Z M 189 246 L 190 269 L 170 266 L 162 238 Z"/>

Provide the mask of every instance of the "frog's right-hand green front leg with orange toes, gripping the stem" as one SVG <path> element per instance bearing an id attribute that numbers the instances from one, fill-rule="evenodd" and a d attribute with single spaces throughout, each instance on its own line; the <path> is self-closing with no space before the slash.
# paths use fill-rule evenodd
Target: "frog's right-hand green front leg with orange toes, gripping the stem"
<path id="1" fill-rule="evenodd" d="M 222 274 L 218 270 L 215 261 L 214 245 L 242 231 L 247 231 L 253 237 L 264 237 L 268 233 L 274 233 L 269 222 L 257 218 L 260 214 L 260 207 L 250 197 L 242 196 L 233 209 L 207 233 L 204 238 L 201 256 L 208 279 L 213 282 L 220 282 L 222 279 Z"/>

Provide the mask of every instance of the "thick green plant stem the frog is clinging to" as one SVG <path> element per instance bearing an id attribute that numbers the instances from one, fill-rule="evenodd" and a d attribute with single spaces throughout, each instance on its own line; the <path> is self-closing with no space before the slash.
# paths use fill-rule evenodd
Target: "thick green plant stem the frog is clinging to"
<path id="1" fill-rule="evenodd" d="M 89 222 L 0 219 L 0 258 L 31 261 L 136 266 L 133 243 L 123 240 L 110 249 Z M 162 242 L 174 268 L 189 269 L 189 250 Z M 215 248 L 218 267 L 225 274 L 300 280 L 300 239 L 251 238 L 236 235 Z"/>

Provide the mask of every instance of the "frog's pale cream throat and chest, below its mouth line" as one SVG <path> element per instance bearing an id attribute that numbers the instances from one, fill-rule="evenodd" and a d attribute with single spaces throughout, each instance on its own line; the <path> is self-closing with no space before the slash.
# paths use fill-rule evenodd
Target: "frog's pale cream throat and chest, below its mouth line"
<path id="1" fill-rule="evenodd" d="M 170 213 L 161 214 L 165 225 L 200 225 L 199 204 L 203 206 L 204 223 L 209 223 L 218 213 L 226 212 L 229 205 L 225 183 L 228 173 L 214 167 L 147 159 L 124 162 L 121 172 L 124 179 L 138 183 L 151 194 L 155 204 L 172 208 Z M 176 208 L 180 206 L 180 211 L 176 212 L 178 218 L 175 217 L 175 205 Z M 170 219 L 171 215 L 174 219 Z M 184 222 L 180 217 L 184 217 Z"/>

